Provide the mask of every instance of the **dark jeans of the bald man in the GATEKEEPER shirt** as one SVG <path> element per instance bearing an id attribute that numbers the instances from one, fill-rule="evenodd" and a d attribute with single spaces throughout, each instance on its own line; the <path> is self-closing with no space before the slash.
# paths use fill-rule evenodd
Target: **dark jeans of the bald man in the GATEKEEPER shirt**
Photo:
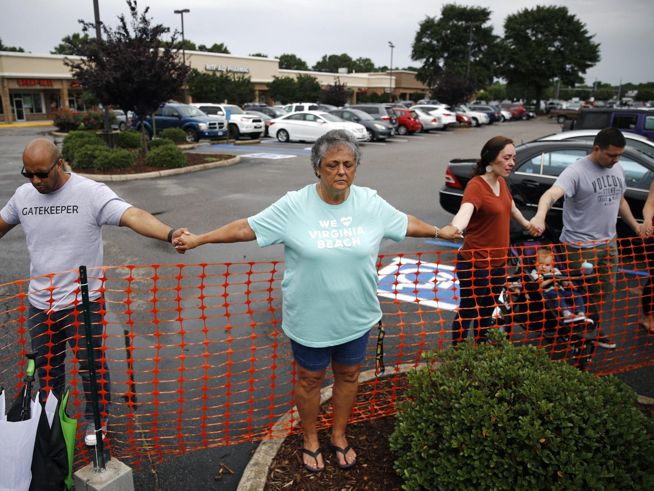
<path id="1" fill-rule="evenodd" d="M 93 336 L 94 356 L 95 356 L 95 373 L 98 382 L 98 402 L 100 414 L 103 411 L 109 415 L 111 410 L 111 384 L 109 381 L 109 370 L 107 362 L 101 363 L 99 359 L 103 357 L 102 348 L 102 314 L 100 314 L 101 304 L 99 302 L 90 302 L 91 314 L 91 333 Z M 86 397 L 86 408 L 84 418 L 87 422 L 93 421 L 93 405 L 91 402 L 91 382 L 88 372 L 88 359 L 86 356 L 86 335 L 84 331 L 84 314 L 77 314 L 78 326 L 75 325 L 75 314 L 71 309 L 50 312 L 36 307 L 29 308 L 29 318 L 27 326 L 29 336 L 32 340 L 32 350 L 38 352 L 36 359 L 36 369 L 39 376 L 39 385 L 41 390 L 46 388 L 63 390 L 66 383 L 65 359 L 66 359 L 66 342 L 71 348 L 78 347 L 75 357 L 79 361 L 78 373 L 82 378 L 82 387 Z M 48 319 L 49 316 L 49 319 Z M 75 336 L 80 338 L 76 339 Z M 52 343 L 52 346 L 48 346 Z M 103 370 L 102 370 L 103 369 Z M 104 384 L 101 383 L 104 380 Z M 99 393 L 102 389 L 105 393 Z M 45 394 L 44 394 L 45 395 Z"/>

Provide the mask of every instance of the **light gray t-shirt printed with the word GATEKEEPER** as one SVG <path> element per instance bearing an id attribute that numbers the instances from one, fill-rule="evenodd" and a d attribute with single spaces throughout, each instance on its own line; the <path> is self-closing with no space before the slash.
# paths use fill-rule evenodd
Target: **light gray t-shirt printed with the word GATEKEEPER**
<path id="1" fill-rule="evenodd" d="M 71 172 L 57 191 L 41 194 L 27 183 L 16 189 L 0 216 L 20 223 L 27 239 L 31 278 L 69 271 L 79 266 L 102 266 L 102 226 L 119 225 L 131 207 L 107 185 Z M 100 297 L 99 269 L 89 269 L 89 298 Z M 41 310 L 73 307 L 77 272 L 35 278 L 29 282 L 29 302 Z M 78 298 L 81 300 L 81 295 Z"/>

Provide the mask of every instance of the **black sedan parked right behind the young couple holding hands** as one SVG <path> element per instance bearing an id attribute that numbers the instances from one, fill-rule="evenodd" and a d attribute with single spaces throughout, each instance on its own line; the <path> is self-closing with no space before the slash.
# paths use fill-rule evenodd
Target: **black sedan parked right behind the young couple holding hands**
<path id="1" fill-rule="evenodd" d="M 532 141 L 515 148 L 515 167 L 506 179 L 513 201 L 526 218 L 531 218 L 538 209 L 538 200 L 547 191 L 560 173 L 572 162 L 589 155 L 593 143 L 589 141 Z M 440 191 L 440 204 L 449 213 L 456 214 L 460 207 L 463 190 L 472 176 L 470 171 L 475 158 L 455 158 L 445 171 L 445 186 Z M 619 164 L 625 170 L 627 192 L 625 198 L 639 223 L 643 221 L 643 205 L 649 194 L 649 185 L 654 179 L 654 158 L 632 149 L 627 145 Z M 563 198 L 547 213 L 547 228 L 559 237 L 563 228 Z M 618 219 L 619 237 L 634 236 L 629 226 Z"/>

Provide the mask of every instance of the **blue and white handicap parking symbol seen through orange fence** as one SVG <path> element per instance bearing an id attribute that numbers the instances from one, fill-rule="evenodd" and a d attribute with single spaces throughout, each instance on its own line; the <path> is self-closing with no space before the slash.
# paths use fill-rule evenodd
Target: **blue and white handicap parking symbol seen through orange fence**
<path id="1" fill-rule="evenodd" d="M 377 295 L 400 302 L 455 310 L 459 297 L 453 264 L 420 263 L 408 257 L 394 257 L 377 271 Z"/>

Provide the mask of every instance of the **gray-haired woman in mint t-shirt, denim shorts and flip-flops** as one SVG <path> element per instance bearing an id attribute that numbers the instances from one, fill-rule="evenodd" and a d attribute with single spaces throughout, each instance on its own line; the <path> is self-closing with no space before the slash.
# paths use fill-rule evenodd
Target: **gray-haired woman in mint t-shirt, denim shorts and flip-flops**
<path id="1" fill-rule="evenodd" d="M 379 324 L 381 331 L 375 268 L 381 240 L 462 236 L 455 227 L 441 231 L 393 208 L 376 191 L 353 185 L 361 158 L 358 142 L 349 132 L 332 130 L 311 148 L 318 184 L 288 192 L 253 217 L 199 236 L 184 234 L 176 241 L 178 251 L 249 240 L 260 247 L 284 244 L 282 329 L 296 361 L 303 462 L 311 472 L 324 470 L 316 422 L 320 386 L 330 361 L 334 373 L 330 447 L 341 469 L 356 464 L 345 428 L 370 329 Z"/>

